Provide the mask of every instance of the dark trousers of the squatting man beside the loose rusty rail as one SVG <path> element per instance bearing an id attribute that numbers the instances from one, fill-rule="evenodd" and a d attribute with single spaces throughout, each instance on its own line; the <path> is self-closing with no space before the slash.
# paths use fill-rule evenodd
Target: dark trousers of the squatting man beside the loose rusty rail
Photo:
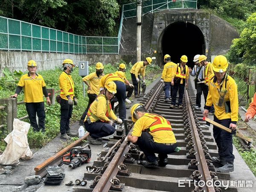
<path id="1" fill-rule="evenodd" d="M 108 123 L 100 121 L 96 121 L 91 124 L 88 124 L 87 121 L 84 122 L 84 127 L 86 131 L 88 131 L 90 133 L 90 136 L 93 138 L 101 138 L 112 135 L 116 131 L 115 125 L 115 123 L 113 123 L 113 125 L 110 125 Z"/>

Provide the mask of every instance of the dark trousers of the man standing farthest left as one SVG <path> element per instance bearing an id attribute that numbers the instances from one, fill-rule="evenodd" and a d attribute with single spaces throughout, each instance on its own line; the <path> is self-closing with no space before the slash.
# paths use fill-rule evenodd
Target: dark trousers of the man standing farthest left
<path id="1" fill-rule="evenodd" d="M 45 111 L 44 102 L 26 103 L 26 111 L 29 115 L 29 121 L 34 131 L 45 129 Z M 38 116 L 38 124 L 36 122 L 36 114 Z M 38 127 L 39 125 L 39 127 Z"/>

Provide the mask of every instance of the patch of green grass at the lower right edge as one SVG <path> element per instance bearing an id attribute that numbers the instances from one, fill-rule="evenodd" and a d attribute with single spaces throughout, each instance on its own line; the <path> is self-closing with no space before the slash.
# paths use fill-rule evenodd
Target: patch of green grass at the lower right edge
<path id="1" fill-rule="evenodd" d="M 250 168 L 250 170 L 253 172 L 253 174 L 256 176 L 256 149 L 252 148 L 251 151 L 245 151 L 241 143 L 239 141 L 238 137 L 233 137 L 233 143 L 236 146 L 237 150 L 239 151 L 239 154 L 244 159 L 247 166 Z"/>

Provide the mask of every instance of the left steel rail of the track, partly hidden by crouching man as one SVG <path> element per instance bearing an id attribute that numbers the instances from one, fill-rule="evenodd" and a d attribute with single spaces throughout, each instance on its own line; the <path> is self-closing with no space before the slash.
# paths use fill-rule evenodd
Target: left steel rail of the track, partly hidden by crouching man
<path id="1" fill-rule="evenodd" d="M 148 100 L 147 104 L 145 105 L 146 110 L 149 109 L 149 107 L 151 106 L 155 97 L 160 92 L 162 86 L 163 86 L 163 83 L 161 82 L 160 85 L 155 90 L 154 94 L 151 96 L 151 98 Z M 132 131 L 132 129 L 131 129 L 131 131 Z M 129 134 L 131 133 L 131 131 L 129 132 Z M 109 165 L 108 165 L 107 169 L 105 170 L 105 172 L 103 173 L 102 177 L 99 179 L 98 183 L 94 187 L 93 192 L 109 191 L 109 189 L 111 188 L 111 185 L 112 185 L 111 179 L 113 177 L 115 177 L 116 174 L 118 173 L 118 170 L 119 170 L 118 166 L 120 165 L 120 163 L 122 163 L 125 160 L 124 155 L 128 151 L 129 151 L 129 147 L 125 143 L 125 141 L 123 141 L 122 145 L 117 150 L 115 156 L 109 163 Z"/>

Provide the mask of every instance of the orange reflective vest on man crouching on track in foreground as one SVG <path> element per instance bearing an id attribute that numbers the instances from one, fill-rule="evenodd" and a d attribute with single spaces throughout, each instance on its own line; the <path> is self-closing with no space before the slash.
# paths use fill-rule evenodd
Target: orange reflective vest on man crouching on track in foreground
<path id="1" fill-rule="evenodd" d="M 144 116 L 148 116 L 152 119 L 155 119 L 155 121 L 149 126 L 148 131 L 150 132 L 156 132 L 160 130 L 172 131 L 171 123 L 167 121 L 165 118 L 163 118 L 162 116 L 157 114 L 152 114 L 152 113 Z"/>

